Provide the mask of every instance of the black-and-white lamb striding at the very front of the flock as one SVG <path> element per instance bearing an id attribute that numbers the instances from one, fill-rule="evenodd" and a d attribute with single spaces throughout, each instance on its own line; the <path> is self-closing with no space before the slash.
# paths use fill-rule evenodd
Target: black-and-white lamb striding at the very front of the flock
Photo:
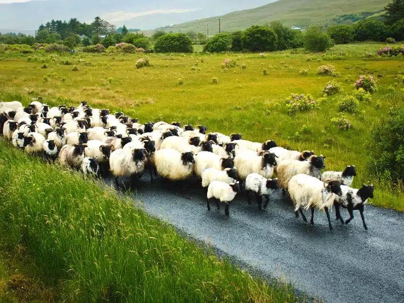
<path id="1" fill-rule="evenodd" d="M 341 190 L 342 195 L 335 197 L 334 201 L 336 219 L 337 220 L 339 219 L 341 223 L 344 224 L 344 221 L 339 212 L 340 206 L 347 209 L 349 213 L 349 219 L 345 221 L 345 224 L 348 224 L 350 220 L 354 219 L 353 211 L 359 210 L 362 218 L 363 227 L 365 228 L 365 230 L 368 230 L 368 227 L 365 223 L 365 217 L 363 215 L 363 211 L 365 204 L 368 201 L 368 198 L 373 199 L 373 190 L 374 190 L 373 185 L 363 184 L 362 188 L 360 189 L 350 188 L 349 186 L 341 185 Z"/>

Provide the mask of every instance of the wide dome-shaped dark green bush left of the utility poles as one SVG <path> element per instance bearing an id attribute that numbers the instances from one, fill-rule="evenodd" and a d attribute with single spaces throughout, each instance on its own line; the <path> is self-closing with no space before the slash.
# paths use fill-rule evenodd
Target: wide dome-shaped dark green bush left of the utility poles
<path id="1" fill-rule="evenodd" d="M 157 53 L 192 53 L 191 39 L 185 34 L 166 34 L 157 39 L 155 44 Z"/>

